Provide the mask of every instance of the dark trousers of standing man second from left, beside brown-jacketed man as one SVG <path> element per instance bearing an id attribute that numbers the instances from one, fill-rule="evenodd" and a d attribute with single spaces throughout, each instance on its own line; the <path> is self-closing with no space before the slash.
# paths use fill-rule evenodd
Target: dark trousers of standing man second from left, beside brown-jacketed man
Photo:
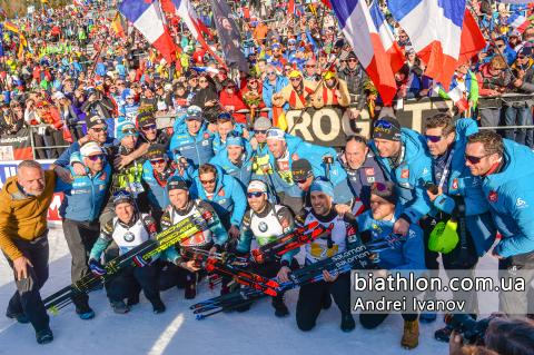
<path id="1" fill-rule="evenodd" d="M 72 255 L 70 276 L 72 283 L 75 283 L 91 273 L 88 265 L 89 255 L 100 234 L 100 224 L 98 219 L 77 221 L 66 218 L 63 220 L 63 233 Z M 88 302 L 89 295 L 87 294 L 73 299 L 73 304 L 77 307 L 87 305 Z"/>

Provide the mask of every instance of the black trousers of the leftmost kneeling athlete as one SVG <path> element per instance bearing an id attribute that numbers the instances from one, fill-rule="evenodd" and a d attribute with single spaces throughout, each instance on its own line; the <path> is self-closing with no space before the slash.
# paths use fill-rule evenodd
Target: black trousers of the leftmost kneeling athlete
<path id="1" fill-rule="evenodd" d="M 126 272 L 126 274 L 113 278 L 109 283 L 107 287 L 108 298 L 112 302 L 120 302 L 125 298 L 138 296 L 142 289 L 148 300 L 160 299 L 159 290 L 156 287 L 157 272 L 156 263 Z"/>

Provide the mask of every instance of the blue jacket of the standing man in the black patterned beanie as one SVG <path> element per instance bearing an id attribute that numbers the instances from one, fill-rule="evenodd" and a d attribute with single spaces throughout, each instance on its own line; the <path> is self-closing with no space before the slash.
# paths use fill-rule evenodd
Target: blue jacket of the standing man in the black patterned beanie
<path id="1" fill-rule="evenodd" d="M 431 200 L 421 178 L 432 181 L 432 160 L 425 138 L 415 130 L 402 128 L 400 150 L 405 150 L 403 161 L 392 169 L 389 159 L 383 158 L 372 141 L 373 152 L 378 158 L 387 180 L 394 181 L 398 189 L 399 201 L 404 205 L 404 213 L 412 223 L 431 210 Z"/>

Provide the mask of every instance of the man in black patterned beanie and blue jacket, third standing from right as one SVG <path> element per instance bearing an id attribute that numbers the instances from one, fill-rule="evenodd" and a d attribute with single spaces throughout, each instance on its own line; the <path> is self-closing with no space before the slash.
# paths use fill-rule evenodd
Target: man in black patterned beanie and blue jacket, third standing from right
<path id="1" fill-rule="evenodd" d="M 370 147 L 389 181 L 398 188 L 404 213 L 393 230 L 405 236 L 409 226 L 431 210 L 431 200 L 422 180 L 432 183 L 432 162 L 423 136 L 403 128 L 393 117 L 385 116 L 374 125 Z"/>

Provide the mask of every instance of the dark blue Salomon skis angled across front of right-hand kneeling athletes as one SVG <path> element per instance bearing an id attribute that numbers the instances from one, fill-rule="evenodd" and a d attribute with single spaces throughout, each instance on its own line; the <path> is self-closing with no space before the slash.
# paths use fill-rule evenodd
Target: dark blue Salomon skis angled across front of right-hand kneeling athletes
<path id="1" fill-rule="evenodd" d="M 402 243 L 405 240 L 406 238 L 402 237 L 400 235 L 389 235 L 384 238 L 366 243 L 357 248 L 345 250 L 344 253 L 289 273 L 288 277 L 290 278 L 290 282 L 279 285 L 275 288 L 275 292 L 280 294 L 291 288 L 319 282 L 323 279 L 323 270 L 327 270 L 332 275 L 339 275 L 348 273 L 353 268 L 369 269 L 374 265 L 370 258 L 375 255 L 375 253 L 385 250 L 396 243 Z M 206 310 L 217 309 L 219 307 L 233 308 L 234 306 L 238 307 L 266 296 L 267 295 L 265 293 L 255 288 L 241 288 L 231 294 L 197 303 L 192 305 L 190 309 L 194 309 L 194 314 L 200 314 Z M 217 313 L 219 313 L 219 310 L 215 310 L 208 315 L 197 316 L 197 319 L 204 319 L 207 316 Z"/>

